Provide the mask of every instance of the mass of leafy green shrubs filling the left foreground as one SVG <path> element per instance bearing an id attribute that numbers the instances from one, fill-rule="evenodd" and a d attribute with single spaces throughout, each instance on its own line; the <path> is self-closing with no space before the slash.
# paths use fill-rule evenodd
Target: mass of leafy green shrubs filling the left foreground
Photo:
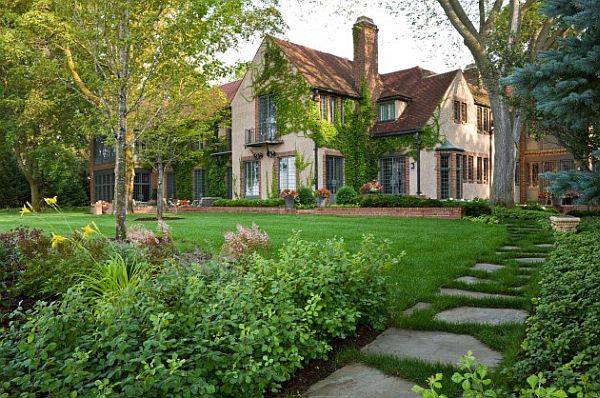
<path id="1" fill-rule="evenodd" d="M 168 263 L 116 297 L 79 285 L 0 329 L 0 397 L 262 397 L 357 324 L 385 326 L 387 251 L 292 236 L 278 258 Z"/>

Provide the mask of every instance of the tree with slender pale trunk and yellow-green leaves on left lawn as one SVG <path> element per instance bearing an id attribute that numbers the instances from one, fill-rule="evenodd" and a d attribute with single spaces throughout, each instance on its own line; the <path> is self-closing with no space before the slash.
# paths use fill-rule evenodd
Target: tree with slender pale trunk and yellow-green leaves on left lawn
<path id="1" fill-rule="evenodd" d="M 29 20 L 65 57 L 79 92 L 104 117 L 115 139 L 116 237 L 125 239 L 127 167 L 136 135 L 152 126 L 147 88 L 183 63 L 198 85 L 223 76 L 218 53 L 281 23 L 276 0 L 37 0 Z M 147 114 L 142 115 L 142 112 Z M 135 124 L 143 120 L 143 125 Z M 129 179 L 130 180 L 130 179 Z"/>

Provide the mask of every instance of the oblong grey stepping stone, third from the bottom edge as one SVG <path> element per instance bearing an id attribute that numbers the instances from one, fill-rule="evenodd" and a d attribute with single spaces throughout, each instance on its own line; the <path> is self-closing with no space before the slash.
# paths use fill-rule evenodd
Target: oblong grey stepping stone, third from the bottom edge
<path id="1" fill-rule="evenodd" d="M 457 307 L 442 311 L 433 319 L 449 323 L 501 325 L 503 323 L 524 323 L 527 319 L 527 312 L 513 308 Z"/>

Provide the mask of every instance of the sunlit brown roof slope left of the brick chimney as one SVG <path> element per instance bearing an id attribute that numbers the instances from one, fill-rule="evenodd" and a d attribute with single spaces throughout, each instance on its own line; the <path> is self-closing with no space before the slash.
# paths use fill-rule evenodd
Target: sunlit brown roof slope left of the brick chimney
<path id="1" fill-rule="evenodd" d="M 352 78 L 352 61 L 275 37 L 271 39 L 312 87 L 358 97 Z"/>

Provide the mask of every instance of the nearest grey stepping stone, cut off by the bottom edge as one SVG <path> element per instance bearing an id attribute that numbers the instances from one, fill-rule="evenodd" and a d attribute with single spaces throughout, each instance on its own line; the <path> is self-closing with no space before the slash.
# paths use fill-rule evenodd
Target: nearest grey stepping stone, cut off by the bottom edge
<path id="1" fill-rule="evenodd" d="M 353 363 L 313 384 L 302 396 L 304 398 L 415 398 L 418 396 L 412 392 L 415 384 L 417 383 Z"/>

